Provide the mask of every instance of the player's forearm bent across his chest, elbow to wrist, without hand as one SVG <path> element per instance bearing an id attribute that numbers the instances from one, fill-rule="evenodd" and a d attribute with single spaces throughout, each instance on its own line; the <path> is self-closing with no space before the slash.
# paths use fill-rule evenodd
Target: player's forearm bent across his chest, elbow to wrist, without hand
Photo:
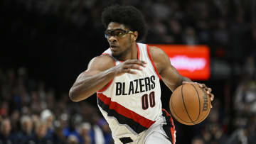
<path id="1" fill-rule="evenodd" d="M 69 96 L 72 101 L 82 101 L 104 87 L 115 77 L 112 70 L 106 70 L 92 76 L 80 77 L 71 87 Z"/>

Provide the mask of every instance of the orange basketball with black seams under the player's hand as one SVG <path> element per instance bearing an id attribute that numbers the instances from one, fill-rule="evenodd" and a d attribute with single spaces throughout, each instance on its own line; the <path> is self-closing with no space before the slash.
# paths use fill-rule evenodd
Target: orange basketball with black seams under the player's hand
<path id="1" fill-rule="evenodd" d="M 198 84 L 183 84 L 171 94 L 169 106 L 178 122 L 196 125 L 210 113 L 210 97 Z"/>

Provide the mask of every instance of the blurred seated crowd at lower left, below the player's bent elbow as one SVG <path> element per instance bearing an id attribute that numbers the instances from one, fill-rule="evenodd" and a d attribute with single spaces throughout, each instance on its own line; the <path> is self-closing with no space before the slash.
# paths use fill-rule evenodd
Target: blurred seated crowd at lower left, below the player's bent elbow
<path id="1" fill-rule="evenodd" d="M 70 103 L 25 67 L 0 71 L 1 144 L 112 143 L 110 129 L 95 106 Z"/>

